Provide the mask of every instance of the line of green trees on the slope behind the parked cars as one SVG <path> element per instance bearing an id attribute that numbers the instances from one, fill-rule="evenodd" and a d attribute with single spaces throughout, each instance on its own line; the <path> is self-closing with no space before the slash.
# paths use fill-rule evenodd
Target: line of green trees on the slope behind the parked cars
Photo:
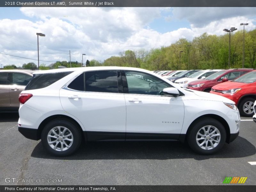
<path id="1" fill-rule="evenodd" d="M 242 68 L 244 39 L 244 68 L 256 68 L 256 29 L 245 31 L 245 38 L 243 30 L 231 33 L 230 68 Z M 221 36 L 204 33 L 192 41 L 181 38 L 175 43 L 161 48 L 126 50 L 120 52 L 119 56 L 112 56 L 103 62 L 87 60 L 86 66 L 122 66 L 148 70 L 225 69 L 228 68 L 228 49 L 228 33 Z M 41 64 L 39 69 L 53 69 L 58 66 L 70 67 L 70 63 L 56 61 L 49 66 Z M 81 66 L 82 63 L 71 62 L 71 67 Z M 14 65 L 5 66 L 5 68 L 13 67 Z M 24 64 L 22 68 L 37 68 L 37 66 L 35 63 L 28 63 Z"/>

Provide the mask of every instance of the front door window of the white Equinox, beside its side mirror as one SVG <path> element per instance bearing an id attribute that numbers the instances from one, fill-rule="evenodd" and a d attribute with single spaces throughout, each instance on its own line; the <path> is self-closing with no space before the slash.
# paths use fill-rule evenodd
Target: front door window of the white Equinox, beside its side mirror
<path id="1" fill-rule="evenodd" d="M 157 95 L 164 88 L 171 87 L 171 85 L 162 80 L 145 73 L 125 71 L 125 76 L 128 84 L 128 93 L 132 94 Z"/>

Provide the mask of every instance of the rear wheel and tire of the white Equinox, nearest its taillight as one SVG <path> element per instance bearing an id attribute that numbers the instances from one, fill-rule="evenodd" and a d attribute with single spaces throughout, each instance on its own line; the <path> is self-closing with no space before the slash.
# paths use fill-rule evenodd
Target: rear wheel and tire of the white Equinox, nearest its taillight
<path id="1" fill-rule="evenodd" d="M 57 127 L 60 128 L 60 132 Z M 56 136 L 55 134 L 53 134 L 53 132 L 51 131 L 53 128 L 55 128 L 54 132 L 57 133 L 57 135 L 59 134 L 59 136 Z M 65 130 L 65 128 L 67 129 Z M 64 135 L 62 135 L 62 133 L 64 133 Z M 59 140 L 56 139 L 57 141 L 55 142 L 55 138 L 51 138 L 51 137 L 48 138 L 48 134 L 56 138 L 58 137 Z M 65 138 L 63 137 L 65 135 L 66 136 L 70 135 L 70 136 Z M 73 141 L 71 142 L 70 140 L 73 140 Z M 52 155 L 68 156 L 74 153 L 77 150 L 77 148 L 80 146 L 81 132 L 79 128 L 72 121 L 69 121 L 68 119 L 64 119 L 64 118 L 58 118 L 58 119 L 52 120 L 51 122 L 45 125 L 41 134 L 41 141 L 44 148 Z M 48 141 L 49 142 L 52 141 L 55 143 L 51 144 L 50 146 Z M 54 144 L 56 145 L 56 149 L 52 148 L 52 147 L 55 147 Z M 63 147 L 62 151 L 61 151 L 61 146 Z"/>

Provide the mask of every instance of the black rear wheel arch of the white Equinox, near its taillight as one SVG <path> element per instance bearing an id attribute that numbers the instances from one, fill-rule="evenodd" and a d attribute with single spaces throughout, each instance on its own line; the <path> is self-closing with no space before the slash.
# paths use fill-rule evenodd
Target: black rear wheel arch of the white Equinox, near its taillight
<path id="1" fill-rule="evenodd" d="M 37 138 L 41 139 L 41 133 L 43 131 L 44 126 L 49 123 L 50 121 L 54 120 L 54 119 L 58 119 L 58 118 L 62 118 L 62 119 L 67 119 L 68 121 L 71 121 L 72 123 L 74 123 L 76 125 L 76 127 L 80 130 L 82 138 L 84 138 L 84 140 L 87 140 L 87 135 L 86 132 L 83 131 L 82 127 L 80 126 L 79 123 L 77 123 L 77 121 L 75 119 L 73 119 L 70 116 L 66 116 L 66 115 L 52 115 L 47 117 L 46 119 L 44 119 L 41 124 L 38 126 L 38 131 L 37 131 Z"/>

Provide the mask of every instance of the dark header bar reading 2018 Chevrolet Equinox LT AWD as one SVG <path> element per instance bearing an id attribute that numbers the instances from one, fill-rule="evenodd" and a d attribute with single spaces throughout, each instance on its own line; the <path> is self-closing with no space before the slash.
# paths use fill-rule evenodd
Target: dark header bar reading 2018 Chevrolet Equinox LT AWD
<path id="1" fill-rule="evenodd" d="M 4 0 L 0 7 L 256 7 L 255 0 Z"/>

